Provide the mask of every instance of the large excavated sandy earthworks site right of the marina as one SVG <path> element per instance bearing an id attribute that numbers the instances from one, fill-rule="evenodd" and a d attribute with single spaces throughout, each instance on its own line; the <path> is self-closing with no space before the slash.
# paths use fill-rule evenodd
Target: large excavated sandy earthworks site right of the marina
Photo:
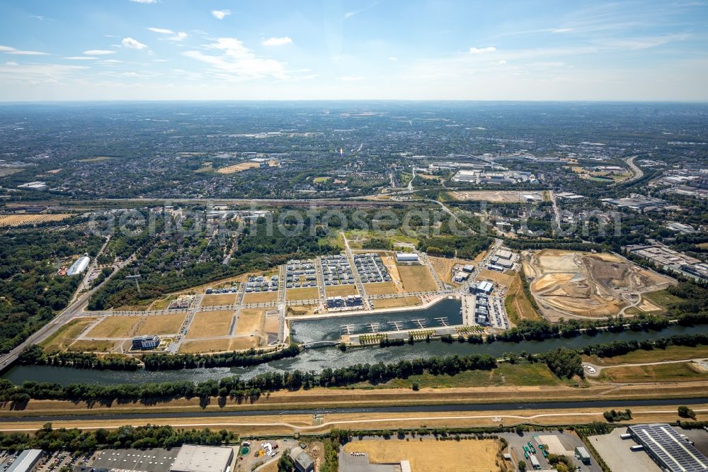
<path id="1" fill-rule="evenodd" d="M 675 283 L 617 254 L 544 249 L 524 252 L 522 263 L 531 293 L 549 321 L 625 315 L 641 303 L 642 293 Z"/>

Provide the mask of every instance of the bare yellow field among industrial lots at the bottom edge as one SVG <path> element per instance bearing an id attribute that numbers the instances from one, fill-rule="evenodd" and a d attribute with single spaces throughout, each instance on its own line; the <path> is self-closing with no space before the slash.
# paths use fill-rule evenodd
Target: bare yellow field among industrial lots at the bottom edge
<path id="1" fill-rule="evenodd" d="M 372 463 L 408 460 L 412 471 L 489 472 L 500 471 L 496 464 L 501 442 L 496 439 L 435 441 L 423 439 L 365 439 L 345 444 L 344 452 L 365 452 Z M 502 462 L 503 463 L 503 462 Z"/>

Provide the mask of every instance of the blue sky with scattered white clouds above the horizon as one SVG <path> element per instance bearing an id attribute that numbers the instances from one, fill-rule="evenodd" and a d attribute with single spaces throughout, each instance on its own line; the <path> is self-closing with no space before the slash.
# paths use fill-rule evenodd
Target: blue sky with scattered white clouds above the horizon
<path id="1" fill-rule="evenodd" d="M 0 0 L 0 101 L 708 101 L 708 1 Z"/>

